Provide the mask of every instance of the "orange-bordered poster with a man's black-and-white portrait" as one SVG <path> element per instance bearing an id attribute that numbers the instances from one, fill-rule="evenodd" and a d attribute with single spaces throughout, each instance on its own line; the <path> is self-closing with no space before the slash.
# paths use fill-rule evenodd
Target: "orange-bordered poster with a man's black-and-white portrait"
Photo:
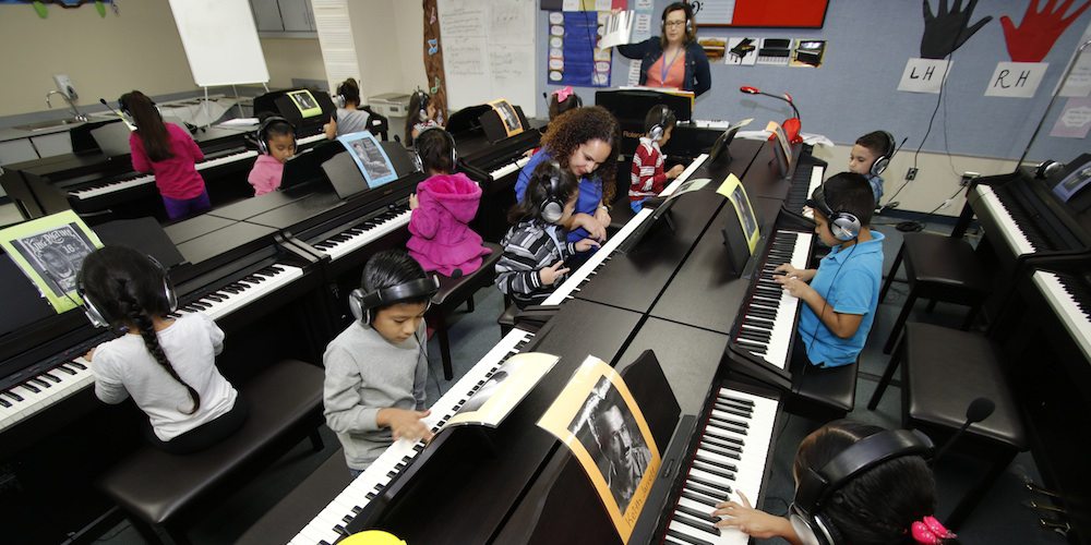
<path id="1" fill-rule="evenodd" d="M 587 356 L 538 421 L 579 461 L 618 530 L 628 543 L 659 473 L 659 447 L 621 375 Z"/>

